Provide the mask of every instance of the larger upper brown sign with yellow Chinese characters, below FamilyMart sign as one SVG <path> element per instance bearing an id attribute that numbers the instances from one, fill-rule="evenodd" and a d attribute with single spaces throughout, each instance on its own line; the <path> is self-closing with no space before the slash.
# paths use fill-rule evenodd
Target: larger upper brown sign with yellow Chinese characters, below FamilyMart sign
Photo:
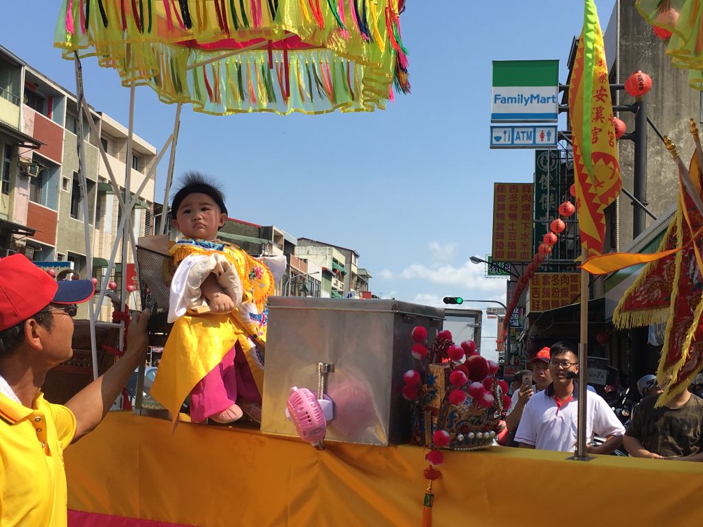
<path id="1" fill-rule="evenodd" d="M 532 183 L 495 183 L 492 261 L 532 260 L 533 197 Z"/>

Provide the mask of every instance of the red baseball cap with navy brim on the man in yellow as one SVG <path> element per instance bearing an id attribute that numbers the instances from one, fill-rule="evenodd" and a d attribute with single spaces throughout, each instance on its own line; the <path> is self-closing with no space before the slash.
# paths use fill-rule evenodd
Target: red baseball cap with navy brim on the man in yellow
<path id="1" fill-rule="evenodd" d="M 95 293 L 92 280 L 59 280 L 23 254 L 0 259 L 0 331 L 18 325 L 49 304 L 80 304 Z"/>

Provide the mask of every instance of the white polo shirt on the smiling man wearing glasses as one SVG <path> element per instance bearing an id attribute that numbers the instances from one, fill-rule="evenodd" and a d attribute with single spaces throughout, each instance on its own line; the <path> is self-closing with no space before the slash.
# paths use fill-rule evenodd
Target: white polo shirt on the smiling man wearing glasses
<path id="1" fill-rule="evenodd" d="M 540 450 L 574 452 L 576 449 L 579 413 L 578 387 L 574 385 L 574 398 L 557 409 L 553 386 L 536 393 L 527 401 L 515 441 L 534 445 Z M 593 391 L 586 391 L 586 441 L 593 436 L 621 436 L 625 427 L 615 416 L 605 400 Z"/>

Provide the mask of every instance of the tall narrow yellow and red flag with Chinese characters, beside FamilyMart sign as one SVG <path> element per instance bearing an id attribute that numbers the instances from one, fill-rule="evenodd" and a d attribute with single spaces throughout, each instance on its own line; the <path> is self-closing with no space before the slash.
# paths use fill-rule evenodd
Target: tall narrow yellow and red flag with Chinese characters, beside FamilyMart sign
<path id="1" fill-rule="evenodd" d="M 583 30 L 569 82 L 576 209 L 583 261 L 602 253 L 604 210 L 614 202 L 622 187 L 603 37 L 593 0 L 586 0 L 585 4 Z"/>

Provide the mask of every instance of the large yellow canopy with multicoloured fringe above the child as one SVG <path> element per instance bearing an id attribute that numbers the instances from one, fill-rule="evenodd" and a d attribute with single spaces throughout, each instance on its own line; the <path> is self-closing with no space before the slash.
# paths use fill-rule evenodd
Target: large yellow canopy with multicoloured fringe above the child
<path id="1" fill-rule="evenodd" d="M 366 112 L 410 90 L 404 3 L 63 0 L 54 45 L 200 112 Z"/>

